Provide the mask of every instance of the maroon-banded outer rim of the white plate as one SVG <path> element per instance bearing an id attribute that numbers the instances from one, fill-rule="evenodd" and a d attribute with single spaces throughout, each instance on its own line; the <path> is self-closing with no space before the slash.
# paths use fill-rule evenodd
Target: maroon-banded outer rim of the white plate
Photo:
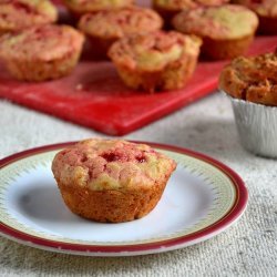
<path id="1" fill-rule="evenodd" d="M 131 141 L 131 142 L 145 143 L 152 147 L 188 155 L 196 160 L 213 165 L 232 181 L 236 192 L 236 201 L 234 205 L 228 211 L 228 213 L 225 214 L 220 219 L 197 232 L 179 236 L 176 238 L 168 238 L 160 242 L 143 243 L 135 245 L 85 245 L 85 244 L 57 242 L 54 239 L 42 238 L 39 236 L 27 234 L 22 230 L 12 228 L 2 222 L 0 222 L 0 235 L 24 245 L 59 253 L 69 253 L 69 254 L 86 255 L 86 256 L 133 256 L 133 255 L 167 252 L 206 240 L 219 234 L 220 232 L 225 230 L 243 215 L 248 202 L 248 191 L 242 177 L 224 163 L 206 154 L 195 152 L 193 150 L 188 150 L 185 147 L 155 143 L 155 142 L 146 142 L 146 141 Z M 9 155 L 0 160 L 0 170 L 28 156 L 33 156 L 40 153 L 47 153 L 50 151 L 63 148 L 73 145 L 74 143 L 76 143 L 76 141 L 48 144 L 18 152 L 16 154 Z"/>

